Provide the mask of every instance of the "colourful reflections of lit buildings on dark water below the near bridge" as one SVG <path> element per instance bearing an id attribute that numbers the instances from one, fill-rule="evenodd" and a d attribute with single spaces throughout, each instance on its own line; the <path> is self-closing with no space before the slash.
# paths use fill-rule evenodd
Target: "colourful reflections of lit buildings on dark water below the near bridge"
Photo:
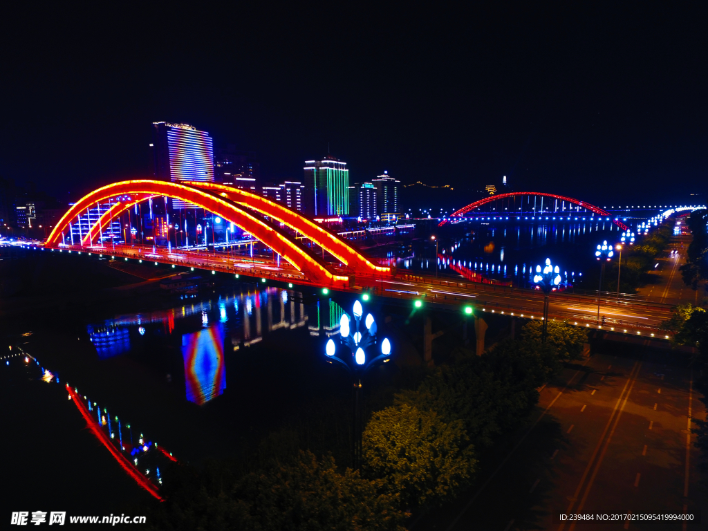
<path id="1" fill-rule="evenodd" d="M 244 286 L 247 289 L 247 286 Z M 236 352 L 263 340 L 264 333 L 298 329 L 308 316 L 302 293 L 268 287 L 221 295 L 215 301 L 204 300 L 135 314 L 123 314 L 102 324 L 90 324 L 87 331 L 99 358 L 111 358 L 139 351 L 153 336 L 179 339 L 184 365 L 185 396 L 203 405 L 226 389 L 225 353 Z M 329 302 L 320 312 L 317 303 L 317 326 L 331 333 L 331 319 L 341 316 L 341 307 Z M 327 302 L 324 302 L 327 304 Z M 338 309 L 338 311 L 337 311 Z M 333 315 L 331 319 L 329 315 Z M 328 324 L 329 323 L 329 324 Z M 313 334 L 314 331 L 314 334 Z M 167 343 L 169 343 L 168 341 Z M 170 376 L 171 378 L 171 376 Z"/>

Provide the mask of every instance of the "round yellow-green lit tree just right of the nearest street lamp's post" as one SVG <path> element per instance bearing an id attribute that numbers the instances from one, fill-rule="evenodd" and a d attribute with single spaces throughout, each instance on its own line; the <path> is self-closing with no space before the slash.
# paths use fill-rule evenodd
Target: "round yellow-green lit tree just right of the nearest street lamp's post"
<path id="1" fill-rule="evenodd" d="M 408 404 L 374 413 L 363 434 L 364 469 L 409 506 L 440 504 L 472 478 L 476 459 L 461 421 Z"/>

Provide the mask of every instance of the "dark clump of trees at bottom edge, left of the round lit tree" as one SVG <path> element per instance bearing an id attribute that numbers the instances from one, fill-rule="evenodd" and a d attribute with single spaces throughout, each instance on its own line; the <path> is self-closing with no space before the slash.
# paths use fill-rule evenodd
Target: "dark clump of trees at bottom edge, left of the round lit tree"
<path id="1" fill-rule="evenodd" d="M 173 467 L 166 502 L 149 518 L 154 529 L 237 531 L 404 531 L 399 496 L 381 481 L 337 472 L 334 459 L 299 452 L 290 464 L 229 474 L 227 463 L 204 470 Z"/>

